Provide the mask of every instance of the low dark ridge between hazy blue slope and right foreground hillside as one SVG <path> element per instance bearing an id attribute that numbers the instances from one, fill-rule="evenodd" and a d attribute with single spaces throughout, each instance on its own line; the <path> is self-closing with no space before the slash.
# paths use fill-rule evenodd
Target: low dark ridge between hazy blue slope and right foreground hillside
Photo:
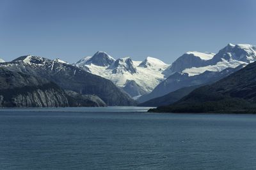
<path id="1" fill-rule="evenodd" d="M 152 106 L 152 107 L 158 107 L 158 106 L 167 106 L 169 104 L 175 103 L 176 101 L 179 101 L 184 96 L 187 96 L 190 92 L 195 90 L 196 88 L 200 87 L 202 85 L 195 85 L 190 87 L 183 87 L 181 89 L 175 90 L 174 92 L 170 92 L 169 94 L 166 94 L 161 97 L 156 97 L 154 99 L 151 99 L 149 101 L 145 101 L 144 103 L 138 104 L 138 106 Z"/>

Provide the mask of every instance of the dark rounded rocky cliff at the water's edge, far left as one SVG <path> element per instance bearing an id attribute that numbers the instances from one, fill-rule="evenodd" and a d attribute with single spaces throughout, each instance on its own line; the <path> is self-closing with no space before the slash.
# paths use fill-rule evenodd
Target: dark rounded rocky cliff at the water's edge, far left
<path id="1" fill-rule="evenodd" d="M 58 85 L 0 67 L 0 107 L 65 107 L 68 96 Z"/>

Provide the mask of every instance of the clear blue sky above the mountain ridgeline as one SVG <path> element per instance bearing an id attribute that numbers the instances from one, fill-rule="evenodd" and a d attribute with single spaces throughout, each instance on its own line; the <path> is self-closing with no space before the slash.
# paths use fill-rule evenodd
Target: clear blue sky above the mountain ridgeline
<path id="1" fill-rule="evenodd" d="M 171 63 L 182 53 L 256 45 L 254 0 L 1 0 L 0 57 L 76 62 L 98 50 Z"/>

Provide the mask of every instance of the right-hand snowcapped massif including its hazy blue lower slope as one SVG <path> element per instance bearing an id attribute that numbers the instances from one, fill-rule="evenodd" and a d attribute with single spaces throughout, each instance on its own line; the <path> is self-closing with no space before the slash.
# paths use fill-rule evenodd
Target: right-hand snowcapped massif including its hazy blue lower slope
<path id="1" fill-rule="evenodd" d="M 256 46 L 248 44 L 228 44 L 215 55 L 214 53 L 187 52 L 163 71 L 166 80 L 157 85 L 150 94 L 140 97 L 138 101 L 143 102 L 164 96 L 181 87 L 200 85 L 202 82 L 206 83 L 206 80 L 207 82 L 216 81 L 214 76 L 225 77 L 221 75 L 223 71 L 229 71 L 229 73 L 231 70 L 236 71 L 255 60 Z"/>

